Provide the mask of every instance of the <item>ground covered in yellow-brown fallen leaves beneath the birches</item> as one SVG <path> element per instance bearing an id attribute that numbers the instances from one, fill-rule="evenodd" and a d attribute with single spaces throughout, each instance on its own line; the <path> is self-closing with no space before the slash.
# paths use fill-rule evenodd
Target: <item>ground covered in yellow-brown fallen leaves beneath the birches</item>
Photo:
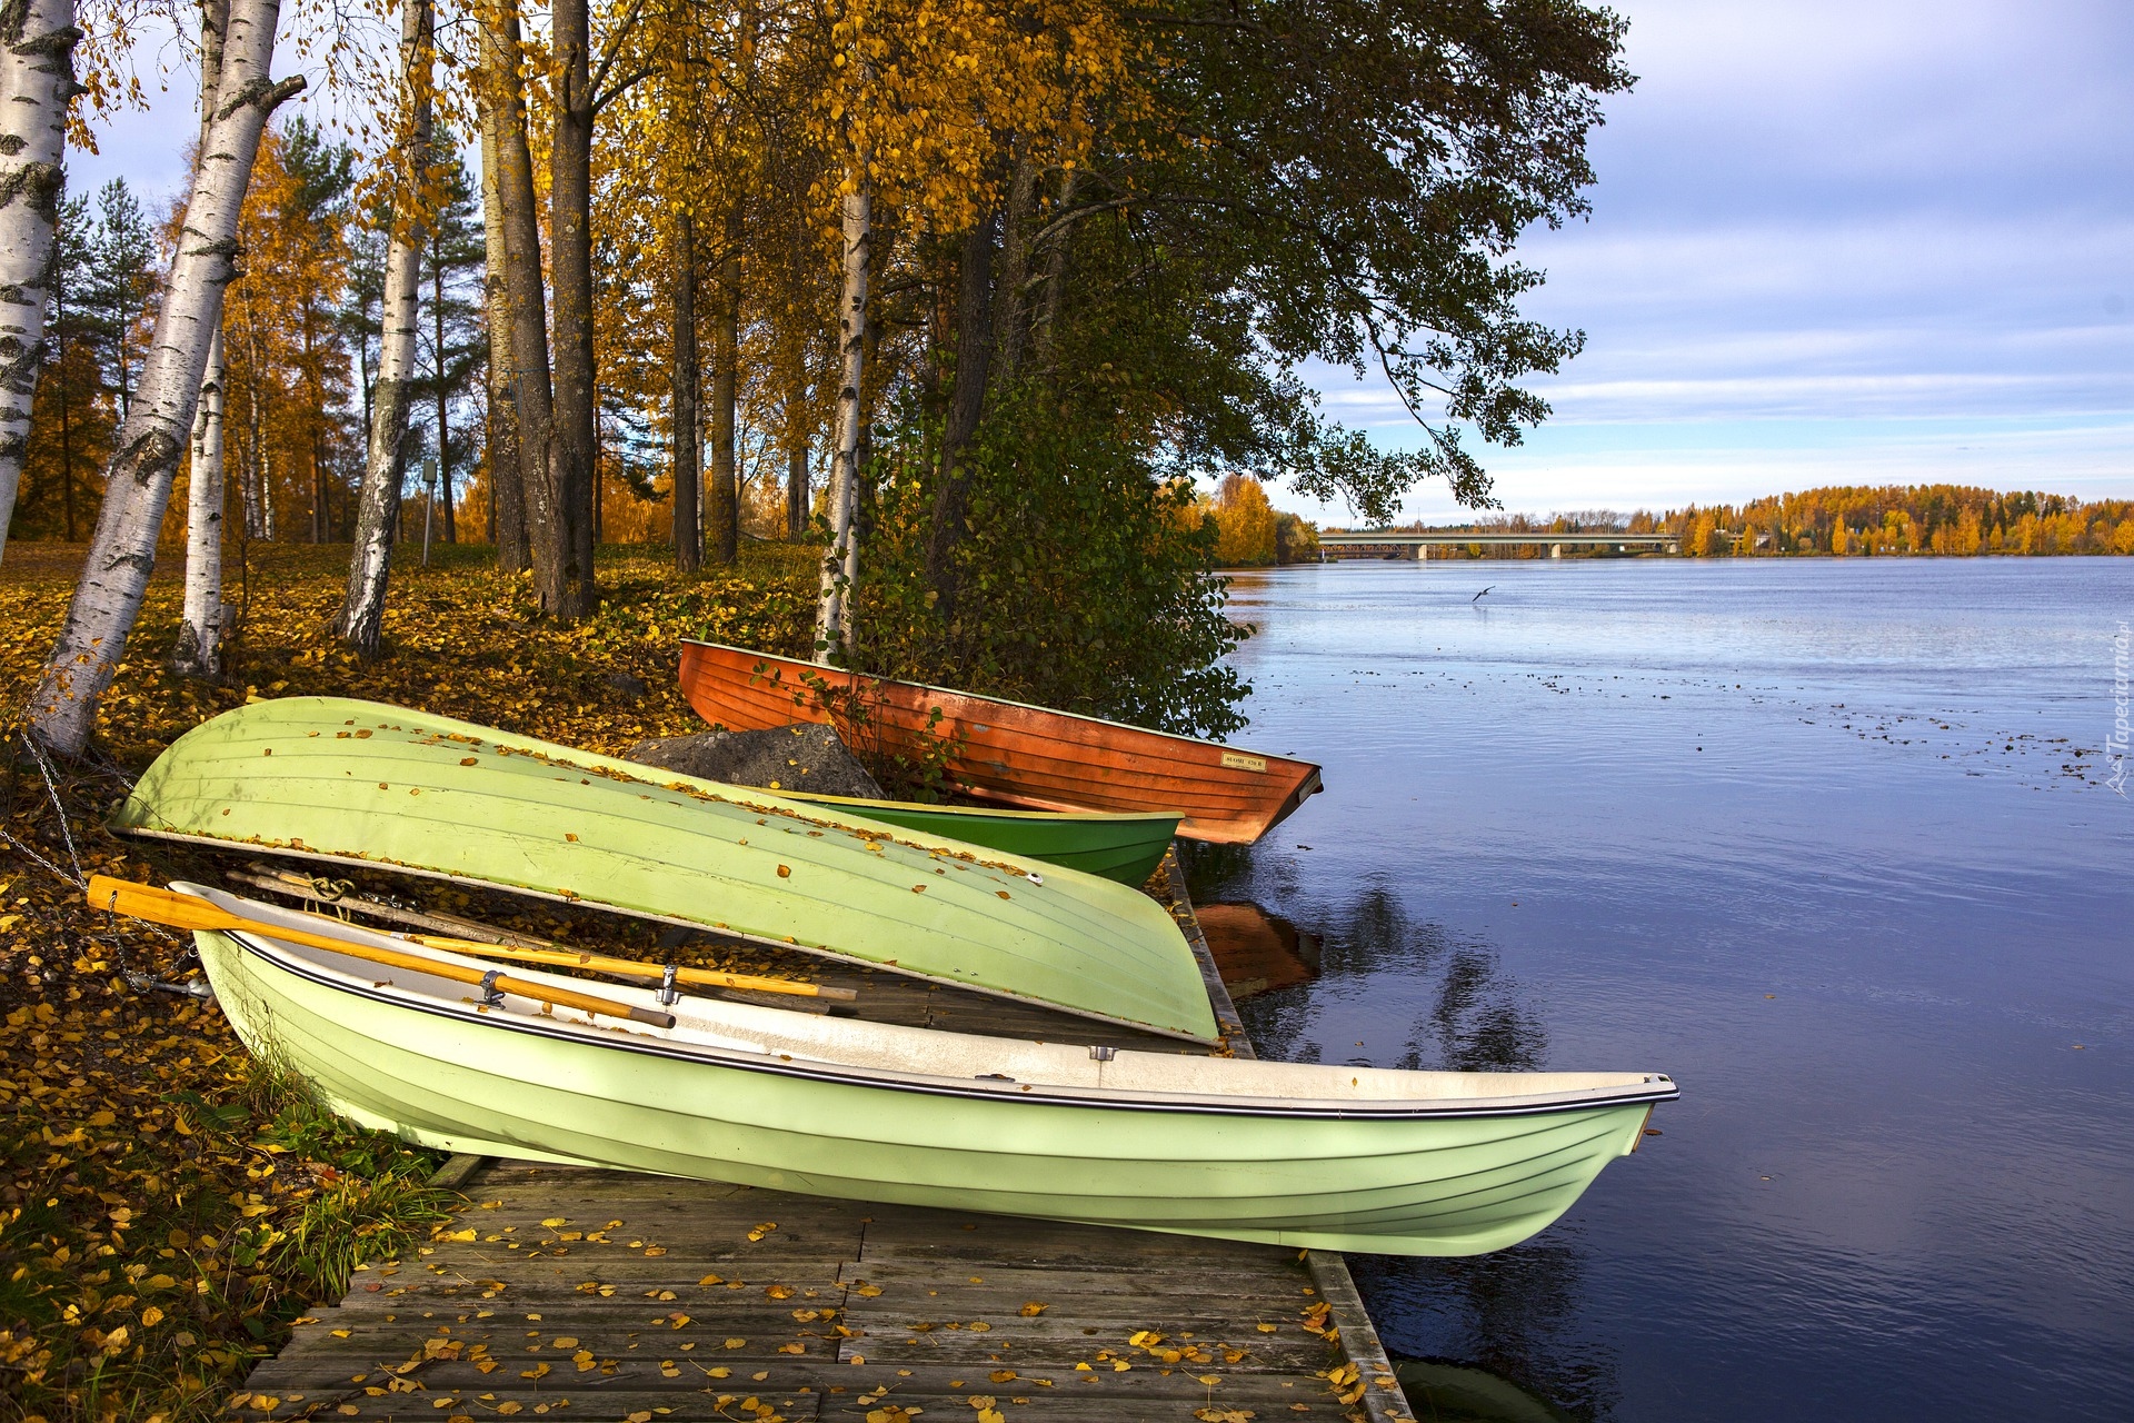
<path id="1" fill-rule="evenodd" d="M 213 1417 L 350 1265 L 425 1237 L 455 1203 L 425 1186 L 433 1154 L 309 1103 L 211 1003 L 128 986 L 181 973 L 186 943 L 92 915 L 62 873 L 149 879 L 139 847 L 100 828 L 132 774 L 252 695 L 363 695 L 615 753 L 700 728 L 674 683 L 679 636 L 800 651 L 813 610 L 800 548 L 758 544 L 702 578 L 610 550 L 602 610 L 559 627 L 525 580 L 446 548 L 440 567 L 395 570 L 386 655 L 365 663 L 331 636 L 346 559 L 233 559 L 241 625 L 218 685 L 164 668 L 179 587 L 158 576 L 58 804 L 19 755 L 15 713 L 81 548 L 13 544 L 0 565 L 0 1419 Z"/>

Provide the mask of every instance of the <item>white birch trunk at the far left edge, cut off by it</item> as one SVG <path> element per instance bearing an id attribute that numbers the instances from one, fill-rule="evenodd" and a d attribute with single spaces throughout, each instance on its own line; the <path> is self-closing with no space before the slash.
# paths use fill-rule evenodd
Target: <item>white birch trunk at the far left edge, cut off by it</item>
<path id="1" fill-rule="evenodd" d="M 51 235 L 66 171 L 75 83 L 75 0 L 0 6 L 0 557 L 30 446 L 30 403 L 45 363 Z"/>

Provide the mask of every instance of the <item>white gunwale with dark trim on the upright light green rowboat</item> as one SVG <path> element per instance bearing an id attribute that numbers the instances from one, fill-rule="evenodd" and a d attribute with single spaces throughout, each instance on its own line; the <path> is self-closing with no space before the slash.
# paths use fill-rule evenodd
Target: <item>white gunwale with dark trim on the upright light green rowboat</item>
<path id="1" fill-rule="evenodd" d="M 256 900 L 239 900 L 239 902 L 256 902 Z M 267 964 L 292 977 L 316 984 L 320 988 L 329 988 L 333 992 L 354 994 L 359 998 L 369 998 L 373 1003 L 399 1007 L 405 1011 L 427 1013 L 431 1018 L 446 1018 L 452 1022 L 497 1028 L 506 1033 L 527 1033 L 534 1037 L 544 1037 L 551 1041 L 568 1041 L 585 1048 L 606 1048 L 615 1052 L 634 1052 L 638 1056 L 657 1056 L 668 1060 L 696 1062 L 728 1071 L 749 1071 L 775 1077 L 796 1077 L 805 1082 L 826 1082 L 837 1086 L 873 1088 L 888 1092 L 915 1092 L 924 1097 L 1041 1103 L 1046 1107 L 1076 1107 L 1076 1109 L 1097 1109 L 1097 1112 L 1154 1112 L 1167 1116 L 1417 1122 L 1417 1120 L 1451 1120 L 1451 1118 L 1564 1116 L 1579 1112 L 1598 1112 L 1609 1107 L 1652 1105 L 1660 1101 L 1675 1101 L 1682 1094 L 1671 1077 L 1660 1073 L 1645 1073 L 1641 1084 L 1626 1084 L 1622 1088 L 1568 1088 L 1564 1092 L 1549 1092 L 1526 1099 L 1496 1097 L 1462 1105 L 1389 1103 L 1372 1107 L 1366 1103 L 1340 1103 L 1334 1099 L 1300 1099 L 1300 1101 L 1280 1101 L 1265 1097 L 1206 1099 L 1187 1092 L 1167 1092 L 1161 1097 L 1167 1097 L 1172 1101 L 1159 1101 L 1157 1099 L 1159 1094 L 1129 1092 L 1125 1088 L 1067 1088 L 1061 1084 L 1046 1086 L 1035 1082 L 1031 1084 L 1001 1082 L 999 1086 L 992 1086 L 990 1080 L 977 1080 L 977 1077 L 973 1077 L 971 1082 L 960 1082 L 950 1077 L 894 1073 L 888 1069 L 866 1069 L 858 1065 L 834 1065 L 819 1060 L 811 1062 L 802 1058 L 773 1062 L 766 1060 L 770 1054 L 751 1054 L 745 1050 L 717 1048 L 711 1043 L 672 1043 L 668 1039 L 651 1037 L 634 1028 L 621 1028 L 621 1026 L 610 1028 L 595 1022 L 578 1024 L 553 1016 L 482 1013 L 478 1011 L 476 1005 L 446 1003 L 431 994 L 423 994 L 410 988 L 399 988 L 397 984 L 391 981 L 380 984 L 378 979 L 359 977 L 327 964 L 314 964 L 303 956 L 282 947 L 282 943 L 275 941 L 273 934 L 254 930 L 218 930 L 218 932 L 224 932 L 226 939 L 243 947 L 254 958 L 260 958 Z M 442 958 L 455 960 L 457 956 L 448 954 Z M 578 979 L 563 979 L 551 973 L 527 973 L 525 977 L 534 981 L 555 979 L 559 984 L 578 984 Z M 787 1009 L 760 1009 L 760 1011 L 787 1011 Z M 975 1037 L 975 1035 L 945 1033 L 945 1037 Z M 1022 1041 L 1022 1039 L 999 1039 L 999 1041 Z M 1573 1092 L 1586 1092 L 1586 1094 L 1573 1097 Z M 1483 1105 L 1483 1103 L 1494 1103 L 1494 1105 Z"/>

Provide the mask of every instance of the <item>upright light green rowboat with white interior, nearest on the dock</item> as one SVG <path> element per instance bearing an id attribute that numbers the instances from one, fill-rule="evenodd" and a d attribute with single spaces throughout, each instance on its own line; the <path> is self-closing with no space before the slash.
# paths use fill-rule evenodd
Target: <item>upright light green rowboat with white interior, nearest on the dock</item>
<path id="1" fill-rule="evenodd" d="M 395 945 L 177 888 L 250 920 Z M 1112 1054 L 687 996 L 668 1009 L 674 1028 L 595 1026 L 269 934 L 198 934 L 216 996 L 245 1045 L 363 1124 L 452 1152 L 864 1201 L 1477 1254 L 1556 1220 L 1675 1097 L 1647 1073 Z"/>

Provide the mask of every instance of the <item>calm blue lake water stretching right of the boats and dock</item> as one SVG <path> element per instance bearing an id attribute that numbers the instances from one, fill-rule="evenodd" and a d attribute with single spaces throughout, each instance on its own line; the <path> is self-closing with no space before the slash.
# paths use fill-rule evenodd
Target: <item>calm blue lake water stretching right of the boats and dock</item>
<path id="1" fill-rule="evenodd" d="M 1532 1242 L 1351 1259 L 1421 1417 L 2134 1419 L 2134 559 L 1338 563 L 1231 610 L 1238 740 L 1327 783 L 1191 866 L 1304 932 L 1263 1054 L 1682 1084 Z"/>

